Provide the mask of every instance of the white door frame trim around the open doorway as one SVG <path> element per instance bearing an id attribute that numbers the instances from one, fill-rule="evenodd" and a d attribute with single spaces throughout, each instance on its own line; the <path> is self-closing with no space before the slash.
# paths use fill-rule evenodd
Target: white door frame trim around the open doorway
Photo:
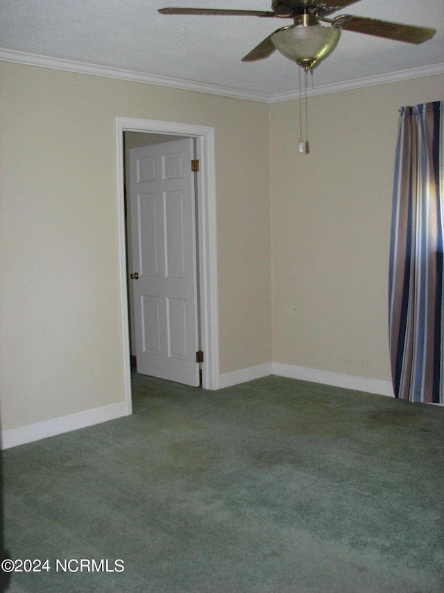
<path id="1" fill-rule="evenodd" d="M 123 380 L 128 414 L 132 413 L 130 330 L 128 323 L 128 268 L 126 261 L 126 221 L 124 195 L 123 132 L 142 132 L 196 138 L 196 158 L 200 175 L 197 192 L 200 332 L 204 362 L 203 389 L 219 385 L 219 315 L 216 248 L 216 174 L 214 161 L 214 128 L 177 122 L 116 117 L 117 234 L 119 248 L 119 287 Z"/>

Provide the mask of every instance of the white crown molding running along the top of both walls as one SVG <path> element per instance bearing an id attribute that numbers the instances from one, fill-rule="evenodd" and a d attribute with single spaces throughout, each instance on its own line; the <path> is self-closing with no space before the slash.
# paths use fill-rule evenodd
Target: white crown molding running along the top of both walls
<path id="1" fill-rule="evenodd" d="M 24 51 L 14 51 L 12 49 L 0 48 L 0 60 L 3 62 L 50 68 L 52 70 L 76 72 L 77 74 L 91 74 L 92 76 L 103 76 L 105 78 L 166 86 L 180 90 L 206 92 L 210 95 L 222 95 L 223 97 L 247 99 L 248 101 L 259 101 L 262 103 L 280 103 L 282 101 L 291 101 L 292 99 L 299 98 L 298 89 L 282 92 L 276 95 L 267 95 L 266 93 L 250 92 L 236 88 L 173 79 L 168 76 L 156 76 L 155 74 L 146 74 L 144 72 L 136 72 L 135 70 L 123 70 L 120 68 L 76 62 L 74 60 L 63 60 L 61 58 L 51 58 L 49 56 L 40 56 L 38 54 L 27 54 Z M 444 74 L 444 63 L 318 86 L 316 88 L 307 89 L 307 96 L 326 95 L 330 92 L 342 92 L 344 90 L 353 90 L 364 88 L 366 86 L 376 86 L 408 79 L 416 79 L 421 78 L 422 76 L 434 76 L 436 74 Z"/>

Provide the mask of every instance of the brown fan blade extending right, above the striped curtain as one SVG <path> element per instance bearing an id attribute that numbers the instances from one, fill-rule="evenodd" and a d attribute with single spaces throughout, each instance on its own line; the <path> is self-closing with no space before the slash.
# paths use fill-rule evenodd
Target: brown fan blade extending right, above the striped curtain
<path id="1" fill-rule="evenodd" d="M 364 17 L 354 17 L 352 15 L 339 15 L 334 18 L 334 26 L 345 31 L 354 31 L 355 33 L 366 33 L 366 35 L 375 35 L 407 43 L 424 43 L 432 39 L 436 33 L 435 29 L 429 27 L 420 27 L 413 25 L 404 25 L 401 23 L 391 23 L 388 21 L 379 21 L 377 19 L 366 19 Z"/>

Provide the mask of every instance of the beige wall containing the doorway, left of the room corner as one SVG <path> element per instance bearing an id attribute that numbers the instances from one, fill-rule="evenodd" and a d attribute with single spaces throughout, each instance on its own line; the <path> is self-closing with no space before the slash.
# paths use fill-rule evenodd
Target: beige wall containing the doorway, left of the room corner
<path id="1" fill-rule="evenodd" d="M 123 399 L 114 117 L 214 127 L 221 373 L 271 360 L 268 106 L 0 63 L 2 428 Z"/>

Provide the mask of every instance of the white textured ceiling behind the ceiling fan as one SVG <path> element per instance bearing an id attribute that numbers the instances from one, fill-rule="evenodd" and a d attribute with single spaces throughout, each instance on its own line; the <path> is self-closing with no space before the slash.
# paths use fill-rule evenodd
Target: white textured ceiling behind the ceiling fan
<path id="1" fill-rule="evenodd" d="M 278 52 L 259 62 L 241 62 L 290 19 L 157 13 L 166 6 L 270 10 L 271 1 L 0 0 L 0 58 L 26 63 L 31 57 L 26 52 L 162 76 L 171 86 L 187 81 L 246 96 L 280 97 L 298 88 L 298 68 Z M 407 70 L 413 75 L 444 72 L 444 0 L 361 0 L 335 15 L 341 13 L 432 26 L 438 32 L 413 45 L 343 31 L 333 54 L 314 69 L 315 89 L 407 78 Z"/>

